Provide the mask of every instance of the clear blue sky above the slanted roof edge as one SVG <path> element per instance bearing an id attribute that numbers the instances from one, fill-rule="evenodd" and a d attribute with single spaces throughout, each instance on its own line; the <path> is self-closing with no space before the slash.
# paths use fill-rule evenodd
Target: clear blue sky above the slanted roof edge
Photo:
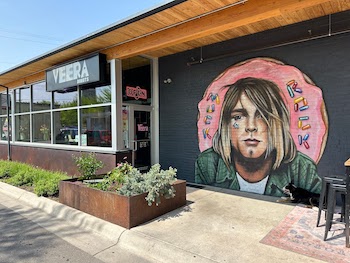
<path id="1" fill-rule="evenodd" d="M 1 0 L 0 73 L 169 0 Z"/>

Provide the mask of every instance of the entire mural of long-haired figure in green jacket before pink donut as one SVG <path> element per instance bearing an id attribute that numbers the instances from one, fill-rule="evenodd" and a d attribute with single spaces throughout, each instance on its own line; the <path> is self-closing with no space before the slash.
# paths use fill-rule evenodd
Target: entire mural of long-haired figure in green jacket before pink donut
<path id="1" fill-rule="evenodd" d="M 245 61 L 214 80 L 198 107 L 197 183 L 282 196 L 292 182 L 320 192 L 327 114 L 322 92 L 298 69 Z"/>

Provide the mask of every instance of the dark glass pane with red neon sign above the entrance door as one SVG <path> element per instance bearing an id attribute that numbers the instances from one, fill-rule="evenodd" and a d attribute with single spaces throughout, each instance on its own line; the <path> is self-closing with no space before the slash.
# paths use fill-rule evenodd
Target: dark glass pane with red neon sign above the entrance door
<path id="1" fill-rule="evenodd" d="M 123 68 L 123 102 L 150 105 L 151 94 L 151 60 L 141 56 L 122 61 Z"/>

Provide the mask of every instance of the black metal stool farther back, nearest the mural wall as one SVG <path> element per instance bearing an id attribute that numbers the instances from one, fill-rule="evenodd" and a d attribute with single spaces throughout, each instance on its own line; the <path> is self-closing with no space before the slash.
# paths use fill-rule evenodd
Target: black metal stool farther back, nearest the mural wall
<path id="1" fill-rule="evenodd" d="M 317 216 L 317 223 L 316 223 L 317 227 L 320 225 L 322 211 L 325 212 L 325 218 L 326 218 L 328 189 L 329 189 L 329 185 L 332 183 L 345 185 L 346 175 L 331 175 L 331 176 L 322 177 L 322 189 L 320 193 L 320 200 L 318 205 L 318 216 Z"/>

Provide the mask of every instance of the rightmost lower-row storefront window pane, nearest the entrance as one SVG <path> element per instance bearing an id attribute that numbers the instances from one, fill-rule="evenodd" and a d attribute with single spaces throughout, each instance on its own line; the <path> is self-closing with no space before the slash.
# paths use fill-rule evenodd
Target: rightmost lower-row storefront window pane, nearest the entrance
<path id="1" fill-rule="evenodd" d="M 111 107 L 93 107 L 81 111 L 81 145 L 111 147 Z"/>

